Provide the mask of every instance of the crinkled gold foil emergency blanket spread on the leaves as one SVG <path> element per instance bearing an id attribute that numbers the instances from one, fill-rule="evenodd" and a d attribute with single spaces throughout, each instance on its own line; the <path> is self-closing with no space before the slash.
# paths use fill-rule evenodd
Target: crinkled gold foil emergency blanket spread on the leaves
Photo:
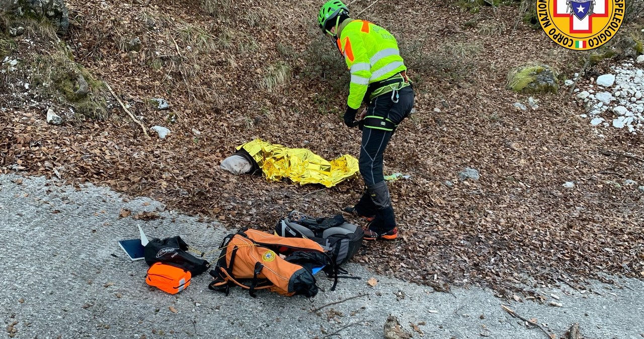
<path id="1" fill-rule="evenodd" d="M 268 181 L 289 178 L 300 185 L 319 183 L 333 187 L 359 170 L 357 159 L 348 154 L 327 161 L 308 149 L 289 149 L 261 139 L 237 147 L 242 148 L 251 154 Z"/>

